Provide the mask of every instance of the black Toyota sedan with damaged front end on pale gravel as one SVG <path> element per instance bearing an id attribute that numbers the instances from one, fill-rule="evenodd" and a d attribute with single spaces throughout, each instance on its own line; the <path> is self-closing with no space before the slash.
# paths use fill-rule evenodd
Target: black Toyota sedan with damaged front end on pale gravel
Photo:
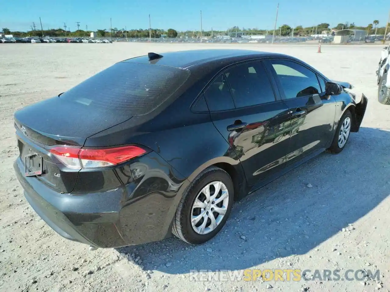
<path id="1" fill-rule="evenodd" d="M 287 55 L 149 53 L 14 114 L 25 197 L 93 248 L 214 237 L 234 201 L 358 132 L 367 98 Z"/>

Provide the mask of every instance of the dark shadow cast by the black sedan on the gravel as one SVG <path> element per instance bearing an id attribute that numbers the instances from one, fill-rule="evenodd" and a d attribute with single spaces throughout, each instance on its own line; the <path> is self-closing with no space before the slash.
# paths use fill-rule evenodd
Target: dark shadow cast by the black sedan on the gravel
<path id="1" fill-rule="evenodd" d="M 362 127 L 340 154 L 323 153 L 234 204 L 225 227 L 207 243 L 171 237 L 117 251 L 168 274 L 246 269 L 305 254 L 389 195 L 388 145 L 390 130 Z"/>

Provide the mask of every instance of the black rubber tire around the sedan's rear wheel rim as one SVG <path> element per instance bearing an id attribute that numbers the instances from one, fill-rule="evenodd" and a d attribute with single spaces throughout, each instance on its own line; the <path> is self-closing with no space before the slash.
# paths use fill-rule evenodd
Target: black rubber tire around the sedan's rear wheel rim
<path id="1" fill-rule="evenodd" d="M 199 234 L 195 232 L 191 225 L 192 206 L 199 192 L 209 183 L 213 181 L 221 181 L 229 192 L 229 202 L 225 215 L 217 227 L 207 234 Z M 190 243 L 191 245 L 199 245 L 210 240 L 222 229 L 227 219 L 234 200 L 234 187 L 229 174 L 219 167 L 211 166 L 200 172 L 200 174 L 191 182 L 181 198 L 177 206 L 175 218 L 172 225 L 172 233 L 179 239 Z"/>

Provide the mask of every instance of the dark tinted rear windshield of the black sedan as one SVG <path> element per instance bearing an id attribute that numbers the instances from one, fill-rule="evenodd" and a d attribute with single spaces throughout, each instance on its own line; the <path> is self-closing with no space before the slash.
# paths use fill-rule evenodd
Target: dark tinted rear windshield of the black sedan
<path id="1" fill-rule="evenodd" d="M 187 70 L 151 64 L 116 63 L 60 95 L 90 107 L 146 114 L 186 81 Z"/>

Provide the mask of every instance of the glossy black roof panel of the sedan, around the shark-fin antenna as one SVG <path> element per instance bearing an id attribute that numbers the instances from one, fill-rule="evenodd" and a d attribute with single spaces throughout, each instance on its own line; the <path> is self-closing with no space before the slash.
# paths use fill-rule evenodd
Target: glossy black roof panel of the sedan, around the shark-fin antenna
<path id="1" fill-rule="evenodd" d="M 269 53 L 253 50 L 241 50 L 241 49 L 196 49 L 188 51 L 176 51 L 161 53 L 163 57 L 157 60 L 149 62 L 147 55 L 139 56 L 131 59 L 124 60 L 122 62 L 129 63 L 152 63 L 161 66 L 188 68 L 192 65 L 198 65 L 199 63 L 212 62 L 217 60 L 225 60 L 231 58 L 260 58 L 266 56 L 282 56 L 277 53 Z"/>

